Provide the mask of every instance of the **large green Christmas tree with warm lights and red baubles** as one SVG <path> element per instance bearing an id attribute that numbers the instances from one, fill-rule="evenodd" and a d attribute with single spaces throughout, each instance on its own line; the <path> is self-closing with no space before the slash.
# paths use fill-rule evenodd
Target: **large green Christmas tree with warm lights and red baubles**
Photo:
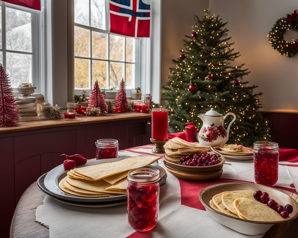
<path id="1" fill-rule="evenodd" d="M 162 96 L 169 107 L 169 126 L 177 131 L 185 129 L 186 122 L 194 122 L 200 130 L 202 121 L 197 117 L 211 108 L 225 115 L 236 114 L 228 143 L 252 146 L 254 141 L 269 140 L 268 121 L 258 112 L 261 108 L 255 94 L 255 85 L 248 86 L 243 77 L 250 72 L 244 64 L 232 66 L 240 56 L 233 52 L 234 43 L 228 41 L 227 23 L 219 16 L 210 16 L 210 11 L 202 20 L 196 20 L 191 36 L 184 39 L 185 50 L 180 50 L 178 60 L 173 60 L 175 68 L 170 68 L 169 82 L 163 86 Z M 231 119 L 225 120 L 225 125 Z"/>

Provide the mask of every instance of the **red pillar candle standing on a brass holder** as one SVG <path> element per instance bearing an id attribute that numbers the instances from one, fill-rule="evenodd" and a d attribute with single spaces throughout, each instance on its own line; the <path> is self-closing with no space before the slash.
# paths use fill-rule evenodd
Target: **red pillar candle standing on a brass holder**
<path id="1" fill-rule="evenodd" d="M 153 140 L 168 139 L 168 109 L 164 109 L 164 108 L 152 109 L 151 138 Z"/>

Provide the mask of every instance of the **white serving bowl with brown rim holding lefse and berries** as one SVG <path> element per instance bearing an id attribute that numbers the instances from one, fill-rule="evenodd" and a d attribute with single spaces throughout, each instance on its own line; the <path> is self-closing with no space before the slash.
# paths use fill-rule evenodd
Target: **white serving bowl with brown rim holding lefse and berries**
<path id="1" fill-rule="evenodd" d="M 258 221 L 251 221 L 245 220 L 237 217 L 233 217 L 224 213 L 221 213 L 213 208 L 210 207 L 210 200 L 212 197 L 220 192 L 225 191 L 237 191 L 237 190 L 261 190 L 262 192 L 268 192 L 269 197 L 274 199 L 280 205 L 290 204 L 293 206 L 294 210 L 289 215 L 288 218 L 284 219 L 280 217 L 280 221 L 275 222 L 258 222 Z M 287 192 L 287 191 L 285 191 Z M 286 194 L 280 190 L 277 190 L 272 187 L 266 187 L 263 185 L 255 184 L 255 183 L 220 183 L 211 185 L 209 187 L 205 187 L 200 192 L 200 201 L 204 205 L 208 214 L 213 217 L 216 221 L 223 224 L 226 227 L 233 229 L 234 231 L 238 231 L 242 234 L 246 235 L 257 235 L 264 233 L 269 230 L 274 224 L 278 223 L 285 223 L 295 219 L 298 216 L 298 195 L 293 194 L 291 192 Z M 293 196 L 293 197 L 292 197 Z M 265 214 L 264 214 L 265 215 Z"/>

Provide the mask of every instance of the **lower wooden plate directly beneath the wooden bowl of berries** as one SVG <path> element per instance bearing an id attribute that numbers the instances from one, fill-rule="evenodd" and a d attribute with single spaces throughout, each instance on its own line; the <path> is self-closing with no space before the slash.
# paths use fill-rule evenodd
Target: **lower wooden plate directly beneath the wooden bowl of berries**
<path id="1" fill-rule="evenodd" d="M 167 165 L 165 165 L 165 167 L 166 167 L 166 170 L 168 170 L 175 177 L 180 179 L 191 180 L 191 181 L 213 180 L 213 179 L 219 178 L 223 173 L 223 169 L 211 171 L 211 172 L 205 172 L 205 173 L 190 173 L 190 172 L 172 170 L 171 168 L 168 168 Z"/>

